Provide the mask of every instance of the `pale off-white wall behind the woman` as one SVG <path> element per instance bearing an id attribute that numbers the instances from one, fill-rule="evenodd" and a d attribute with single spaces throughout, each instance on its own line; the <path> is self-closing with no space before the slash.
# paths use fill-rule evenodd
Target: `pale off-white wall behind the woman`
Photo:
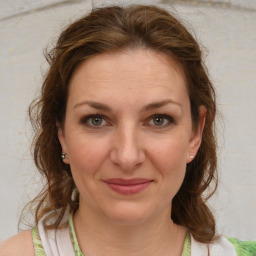
<path id="1" fill-rule="evenodd" d="M 91 3 L 102 2 L 0 0 L 0 241 L 17 232 L 20 210 L 40 187 L 29 151 L 27 107 L 46 67 L 42 49 Z M 174 2 L 209 50 L 206 60 L 223 113 L 219 126 L 225 126 L 219 132 L 221 182 L 211 200 L 218 229 L 256 240 L 256 1 L 164 2 L 168 8 Z"/>

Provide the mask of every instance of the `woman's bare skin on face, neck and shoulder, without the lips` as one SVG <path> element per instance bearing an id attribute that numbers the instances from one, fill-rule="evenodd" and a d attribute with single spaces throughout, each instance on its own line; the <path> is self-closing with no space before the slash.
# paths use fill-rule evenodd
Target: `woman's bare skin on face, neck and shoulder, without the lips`
<path id="1" fill-rule="evenodd" d="M 98 256 L 181 255 L 187 231 L 170 219 L 171 202 L 200 146 L 206 112 L 200 107 L 194 131 L 182 68 L 151 50 L 101 54 L 75 70 L 69 89 L 65 123 L 57 126 L 64 162 L 80 192 L 73 218 L 81 250 Z M 165 104 L 152 108 L 156 102 Z M 86 119 L 95 114 L 104 117 Z M 103 182 L 110 178 L 152 182 L 123 195 Z M 3 256 L 17 250 L 34 255 L 31 231 L 0 246 Z"/>

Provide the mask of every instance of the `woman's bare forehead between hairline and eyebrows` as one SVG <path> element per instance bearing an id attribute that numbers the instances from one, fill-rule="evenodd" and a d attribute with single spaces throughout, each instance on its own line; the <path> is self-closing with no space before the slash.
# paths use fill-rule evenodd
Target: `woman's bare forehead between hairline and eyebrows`
<path id="1" fill-rule="evenodd" d="M 70 98 L 128 96 L 187 97 L 182 67 L 171 57 L 148 49 L 104 53 L 83 62 L 70 81 Z M 161 96 L 162 95 L 162 96 Z"/>

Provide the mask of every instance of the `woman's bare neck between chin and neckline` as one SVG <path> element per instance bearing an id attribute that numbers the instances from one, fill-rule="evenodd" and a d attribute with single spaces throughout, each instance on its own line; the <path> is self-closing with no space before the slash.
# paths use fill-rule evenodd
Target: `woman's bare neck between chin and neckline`
<path id="1" fill-rule="evenodd" d="M 74 226 L 84 255 L 181 255 L 185 228 L 170 219 L 170 210 L 136 224 L 120 224 L 79 208 Z"/>

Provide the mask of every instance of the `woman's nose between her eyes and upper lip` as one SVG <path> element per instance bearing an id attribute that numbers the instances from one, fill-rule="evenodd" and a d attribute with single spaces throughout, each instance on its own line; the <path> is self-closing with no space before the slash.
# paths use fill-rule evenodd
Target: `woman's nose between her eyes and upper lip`
<path id="1" fill-rule="evenodd" d="M 145 161 L 145 152 L 136 127 L 119 127 L 113 138 L 110 159 L 124 171 L 132 171 Z"/>

